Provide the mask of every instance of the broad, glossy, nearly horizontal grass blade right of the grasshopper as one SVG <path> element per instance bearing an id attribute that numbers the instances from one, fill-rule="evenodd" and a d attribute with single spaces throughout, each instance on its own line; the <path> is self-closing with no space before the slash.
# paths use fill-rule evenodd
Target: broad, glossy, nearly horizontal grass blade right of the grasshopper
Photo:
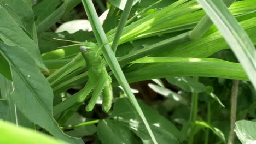
<path id="1" fill-rule="evenodd" d="M 142 58 L 135 62 L 152 64 L 139 67 L 135 71 L 131 71 L 131 69 L 134 69 L 132 66 L 127 69 L 127 71 L 131 71 L 125 73 L 126 79 L 130 83 L 169 76 L 222 77 L 226 79 L 248 80 L 245 71 L 239 63 L 231 63 L 221 59 L 155 57 Z M 113 83 L 116 86 L 115 80 L 113 80 Z"/>

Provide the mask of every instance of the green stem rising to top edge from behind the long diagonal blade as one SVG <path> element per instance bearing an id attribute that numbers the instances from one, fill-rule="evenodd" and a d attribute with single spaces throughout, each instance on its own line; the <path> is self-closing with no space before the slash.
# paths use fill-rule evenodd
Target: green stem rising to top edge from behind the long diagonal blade
<path id="1" fill-rule="evenodd" d="M 125 27 L 125 23 L 126 23 L 126 21 L 128 19 L 128 16 L 130 14 L 130 11 L 131 11 L 131 8 L 132 8 L 132 3 L 133 3 L 133 1 L 126 1 L 124 11 L 121 15 L 121 20 L 118 23 L 117 32 L 115 33 L 115 37 L 114 37 L 114 40 L 113 40 L 113 43 L 112 43 L 112 50 L 113 50 L 114 53 L 115 53 L 115 51 L 117 51 L 118 42 L 119 42 L 119 39 L 120 39 L 121 34 L 123 32 L 123 29 Z"/>

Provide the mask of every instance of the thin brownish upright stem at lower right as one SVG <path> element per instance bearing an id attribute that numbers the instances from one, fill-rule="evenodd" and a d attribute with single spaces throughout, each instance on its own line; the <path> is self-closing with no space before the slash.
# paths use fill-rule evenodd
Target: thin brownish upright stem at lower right
<path id="1" fill-rule="evenodd" d="M 228 144 L 232 144 L 235 137 L 235 123 L 236 123 L 236 104 L 238 94 L 239 80 L 234 80 L 231 90 L 231 114 L 230 114 L 230 131 Z"/>

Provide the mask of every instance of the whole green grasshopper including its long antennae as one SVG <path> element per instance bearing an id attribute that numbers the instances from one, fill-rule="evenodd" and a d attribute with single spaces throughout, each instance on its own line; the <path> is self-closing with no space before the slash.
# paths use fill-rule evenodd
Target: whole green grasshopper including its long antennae
<path id="1" fill-rule="evenodd" d="M 55 38 L 54 38 L 55 39 Z M 86 111 L 91 111 L 94 109 L 96 101 L 102 92 L 102 110 L 108 112 L 111 108 L 112 99 L 113 99 L 113 91 L 111 86 L 111 78 L 108 75 L 105 64 L 106 62 L 101 57 L 101 47 L 92 42 L 79 42 L 79 41 L 71 41 L 71 40 L 63 40 L 56 39 L 62 41 L 69 41 L 73 43 L 78 43 L 74 45 L 79 45 L 79 49 L 82 53 L 82 56 L 85 59 L 86 66 L 88 68 L 88 81 L 83 89 L 83 94 L 79 95 L 77 98 L 78 102 L 83 102 L 86 97 L 88 97 L 89 93 L 94 89 L 92 93 L 89 104 L 86 106 Z M 69 46 L 74 46 L 69 45 Z M 69 47 L 63 46 L 63 47 Z M 60 48 L 63 48 L 60 47 Z"/>

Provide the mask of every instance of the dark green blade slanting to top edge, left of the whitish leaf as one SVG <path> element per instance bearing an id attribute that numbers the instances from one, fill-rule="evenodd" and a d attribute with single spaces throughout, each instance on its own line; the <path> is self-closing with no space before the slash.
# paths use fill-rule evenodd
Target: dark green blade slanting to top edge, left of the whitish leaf
<path id="1" fill-rule="evenodd" d="M 57 8 L 53 13 L 51 13 L 48 17 L 43 19 L 37 25 L 37 33 L 38 35 L 42 34 L 49 27 L 51 27 L 57 20 L 59 20 L 64 14 L 66 14 L 69 10 L 75 7 L 75 5 L 79 4 L 79 0 L 65 0 L 59 8 Z M 45 16 L 44 16 L 45 17 Z"/>

